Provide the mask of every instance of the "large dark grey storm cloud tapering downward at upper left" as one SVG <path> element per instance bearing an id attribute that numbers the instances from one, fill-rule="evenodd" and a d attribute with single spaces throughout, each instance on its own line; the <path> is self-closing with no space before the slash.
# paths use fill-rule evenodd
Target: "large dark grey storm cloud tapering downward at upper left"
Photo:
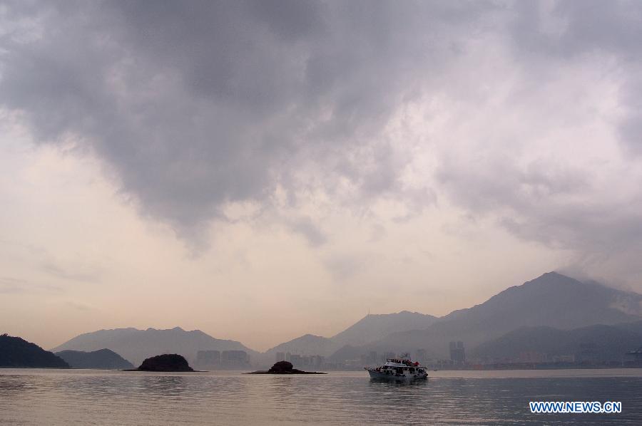
<path id="1" fill-rule="evenodd" d="M 296 185 L 310 157 L 328 187 L 398 186 L 377 152 L 367 170 L 368 157 L 345 157 L 440 72 L 482 5 L 9 3 L 5 19 L 36 24 L 4 36 L 0 100 L 39 142 L 79 138 L 143 212 L 189 235 L 225 202 L 265 203 L 278 182 Z"/>

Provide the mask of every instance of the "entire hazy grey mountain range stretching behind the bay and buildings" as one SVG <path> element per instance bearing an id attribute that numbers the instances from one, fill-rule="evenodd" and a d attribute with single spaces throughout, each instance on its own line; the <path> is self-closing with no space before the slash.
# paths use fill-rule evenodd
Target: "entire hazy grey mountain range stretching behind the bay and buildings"
<path id="1" fill-rule="evenodd" d="M 425 350 L 431 358 L 448 358 L 449 342 L 463 341 L 469 353 L 479 353 L 492 341 L 508 333 L 541 333 L 555 339 L 556 333 L 588 326 L 612 326 L 642 320 L 642 295 L 582 282 L 549 272 L 537 279 L 513 286 L 472 308 L 453 311 L 441 318 L 402 311 L 367 315 L 332 337 L 306 334 L 280 343 L 265 353 L 251 350 L 237 341 L 220 340 L 202 331 L 138 330 L 118 328 L 85 333 L 54 350 L 98 350 L 109 348 L 134 364 L 159 353 L 180 353 L 195 359 L 198 350 L 245 350 L 255 365 L 270 365 L 279 352 L 323 355 L 329 360 L 358 359 L 376 351 L 412 352 Z M 619 333 L 619 328 L 609 328 Z M 548 333 L 548 334 L 547 334 Z M 635 338 L 630 334 L 631 339 Z M 506 340 L 504 348 L 516 341 Z M 501 348 L 496 343 L 496 348 Z M 479 348 L 479 351 L 477 351 Z M 489 348 L 486 354 L 491 354 Z M 619 350 L 619 349 L 618 349 Z M 477 352 L 476 352 L 477 351 Z"/>

